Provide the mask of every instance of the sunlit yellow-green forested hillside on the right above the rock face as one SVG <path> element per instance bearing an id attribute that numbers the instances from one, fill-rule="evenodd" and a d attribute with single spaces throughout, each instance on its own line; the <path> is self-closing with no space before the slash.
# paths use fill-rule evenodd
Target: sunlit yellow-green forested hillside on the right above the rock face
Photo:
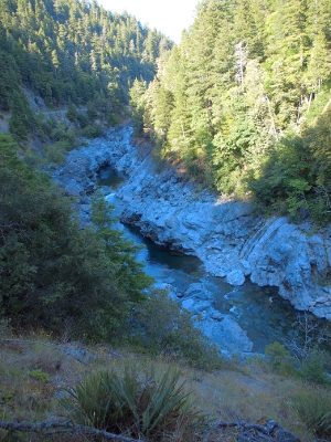
<path id="1" fill-rule="evenodd" d="M 330 221 L 329 0 L 204 0 L 131 91 L 156 152 L 220 193 Z"/>

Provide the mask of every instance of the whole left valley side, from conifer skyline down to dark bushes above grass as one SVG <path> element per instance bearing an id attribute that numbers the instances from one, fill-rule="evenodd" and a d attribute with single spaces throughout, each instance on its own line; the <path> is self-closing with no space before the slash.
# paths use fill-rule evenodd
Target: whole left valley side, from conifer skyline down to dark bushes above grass
<path id="1" fill-rule="evenodd" d="M 79 136 L 119 122 L 135 78 L 152 81 L 172 43 L 94 1 L 0 6 L 0 123 L 9 120 L 10 131 L 0 133 L 0 332 L 61 336 L 68 328 L 71 339 L 168 349 L 217 366 L 216 347 L 192 314 L 150 287 L 140 246 L 115 229 L 103 193 L 85 194 L 93 225 L 82 225 L 73 207 L 79 198 L 35 170 L 62 164 Z M 169 323 L 156 334 L 157 311 Z"/>

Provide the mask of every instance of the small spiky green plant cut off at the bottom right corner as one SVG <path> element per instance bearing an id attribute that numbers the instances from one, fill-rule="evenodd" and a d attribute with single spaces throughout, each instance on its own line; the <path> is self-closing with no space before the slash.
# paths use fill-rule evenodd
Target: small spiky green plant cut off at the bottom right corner
<path id="1" fill-rule="evenodd" d="M 298 394 L 292 399 L 292 406 L 308 430 L 318 438 L 331 436 L 331 400 L 328 394 L 321 391 Z"/>

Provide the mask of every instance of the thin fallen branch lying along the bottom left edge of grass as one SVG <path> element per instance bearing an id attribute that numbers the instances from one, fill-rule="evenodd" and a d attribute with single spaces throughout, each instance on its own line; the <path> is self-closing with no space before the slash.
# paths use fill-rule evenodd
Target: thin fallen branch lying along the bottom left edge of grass
<path id="1" fill-rule="evenodd" d="M 42 433 L 45 435 L 52 435 L 56 433 L 70 433 L 73 431 L 81 433 L 89 433 L 93 435 L 102 435 L 107 440 L 121 441 L 121 442 L 137 442 L 137 439 L 126 438 L 121 434 L 108 433 L 104 430 L 97 430 L 92 427 L 84 427 L 75 424 L 73 421 L 66 422 L 38 422 L 38 423 L 20 423 L 20 422 L 4 422 L 0 421 L 0 429 L 8 431 L 23 431 L 30 433 Z M 53 431 L 50 431 L 53 430 Z M 143 439 L 139 439 L 140 442 L 145 442 Z"/>

